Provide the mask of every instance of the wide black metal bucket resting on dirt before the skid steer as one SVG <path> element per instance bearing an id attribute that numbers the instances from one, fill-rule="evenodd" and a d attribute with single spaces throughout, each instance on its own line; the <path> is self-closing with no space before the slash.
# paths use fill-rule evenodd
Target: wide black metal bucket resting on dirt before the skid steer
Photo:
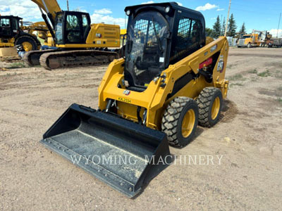
<path id="1" fill-rule="evenodd" d="M 163 132 L 78 104 L 41 143 L 130 198 L 167 166 L 157 162 L 171 157 Z"/>

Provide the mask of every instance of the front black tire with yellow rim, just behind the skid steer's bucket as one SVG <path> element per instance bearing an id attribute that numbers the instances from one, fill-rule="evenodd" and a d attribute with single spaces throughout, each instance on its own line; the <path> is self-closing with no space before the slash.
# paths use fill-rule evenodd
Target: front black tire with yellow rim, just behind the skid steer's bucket
<path id="1" fill-rule="evenodd" d="M 161 121 L 161 130 L 166 133 L 168 143 L 177 147 L 183 147 L 190 143 L 195 136 L 198 117 L 199 108 L 195 100 L 188 97 L 174 98 L 168 104 Z M 192 118 L 191 123 L 188 123 L 190 129 L 183 130 L 183 124 L 187 118 L 189 120 Z"/>

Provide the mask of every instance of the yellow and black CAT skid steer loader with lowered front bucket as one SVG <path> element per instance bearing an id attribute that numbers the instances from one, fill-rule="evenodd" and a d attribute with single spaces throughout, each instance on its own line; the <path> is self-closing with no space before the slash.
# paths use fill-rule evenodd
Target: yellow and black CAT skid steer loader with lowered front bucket
<path id="1" fill-rule="evenodd" d="M 75 165 L 133 197 L 169 165 L 168 143 L 183 147 L 198 123 L 219 121 L 228 41 L 207 44 L 202 13 L 176 3 L 128 6 L 125 13 L 125 58 L 106 70 L 99 109 L 73 104 L 41 142 L 70 161 L 81 158 Z M 101 161 L 115 156 L 128 162 Z"/>

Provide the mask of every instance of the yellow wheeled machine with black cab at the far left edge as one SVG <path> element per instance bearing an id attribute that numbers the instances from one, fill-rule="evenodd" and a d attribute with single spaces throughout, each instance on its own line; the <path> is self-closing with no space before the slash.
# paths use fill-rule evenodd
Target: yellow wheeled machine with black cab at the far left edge
<path id="1" fill-rule="evenodd" d="M 0 57 L 3 60 L 19 59 L 14 46 L 22 46 L 23 51 L 39 49 L 40 41 L 33 32 L 37 31 L 43 37 L 48 31 L 41 22 L 24 26 L 22 19 L 13 15 L 0 15 Z"/>

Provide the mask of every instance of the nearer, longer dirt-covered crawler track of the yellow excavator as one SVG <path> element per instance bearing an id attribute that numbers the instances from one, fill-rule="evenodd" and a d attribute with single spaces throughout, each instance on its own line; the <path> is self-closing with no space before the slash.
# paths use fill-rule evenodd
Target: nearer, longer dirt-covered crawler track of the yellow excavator
<path id="1" fill-rule="evenodd" d="M 76 50 L 44 53 L 40 57 L 39 63 L 43 68 L 53 70 L 106 65 L 116 58 L 119 58 L 118 53 L 112 51 Z"/>

